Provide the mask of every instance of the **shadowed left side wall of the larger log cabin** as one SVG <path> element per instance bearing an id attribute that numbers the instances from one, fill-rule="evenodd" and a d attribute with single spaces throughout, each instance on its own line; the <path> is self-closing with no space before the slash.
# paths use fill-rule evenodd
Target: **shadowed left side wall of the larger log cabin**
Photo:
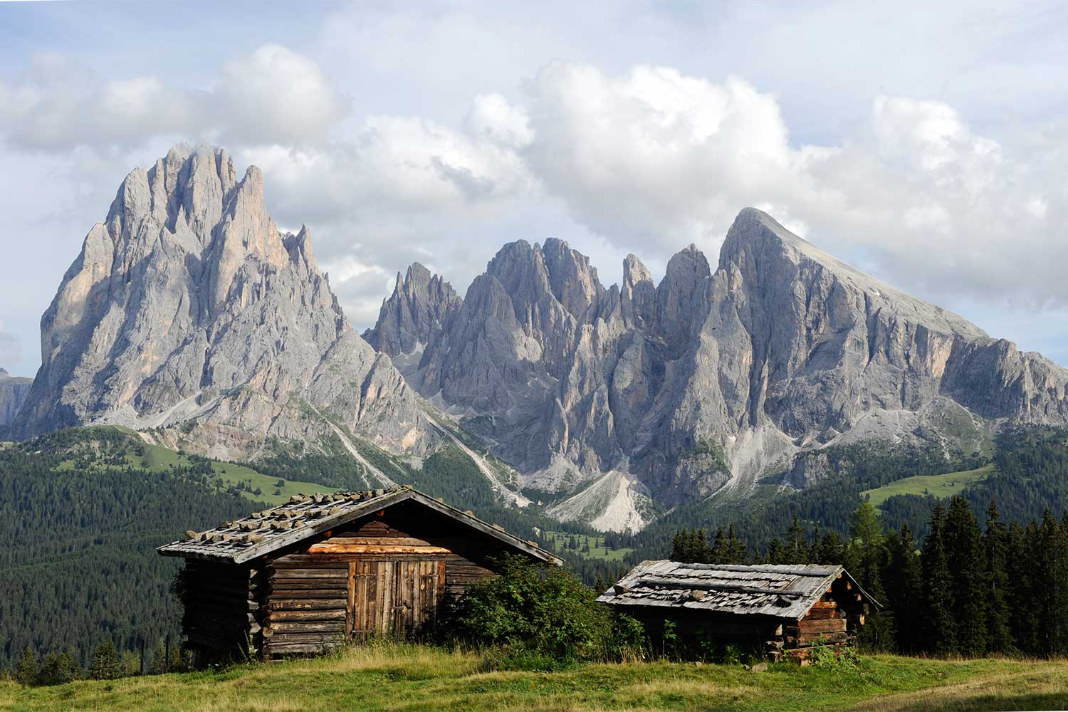
<path id="1" fill-rule="evenodd" d="M 261 571 L 250 566 L 186 560 L 182 629 L 199 662 L 258 651 L 261 581 Z"/>

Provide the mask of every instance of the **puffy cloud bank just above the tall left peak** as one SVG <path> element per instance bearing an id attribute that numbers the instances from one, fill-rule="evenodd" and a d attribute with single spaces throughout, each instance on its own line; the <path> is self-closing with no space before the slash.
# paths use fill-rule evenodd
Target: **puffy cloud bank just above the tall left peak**
<path id="1" fill-rule="evenodd" d="M 347 111 L 315 62 L 277 45 L 225 63 L 204 91 L 154 75 L 105 79 L 56 53 L 0 79 L 0 133 L 15 148 L 130 149 L 157 137 L 304 144 L 324 141 Z"/>

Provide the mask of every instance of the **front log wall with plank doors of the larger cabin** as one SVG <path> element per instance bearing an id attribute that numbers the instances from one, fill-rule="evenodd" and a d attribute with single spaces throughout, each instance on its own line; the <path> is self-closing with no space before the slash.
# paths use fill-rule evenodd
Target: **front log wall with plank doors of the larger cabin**
<path id="1" fill-rule="evenodd" d="M 263 652 L 314 653 L 350 636 L 422 635 L 446 594 L 492 576 L 492 537 L 400 503 L 262 560 Z"/>

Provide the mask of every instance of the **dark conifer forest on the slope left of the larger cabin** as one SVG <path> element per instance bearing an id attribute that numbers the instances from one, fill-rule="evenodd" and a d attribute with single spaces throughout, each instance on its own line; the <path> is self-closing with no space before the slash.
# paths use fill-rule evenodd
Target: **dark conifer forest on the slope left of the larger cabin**
<path id="1" fill-rule="evenodd" d="M 109 640 L 124 666 L 136 656 L 140 669 L 143 650 L 151 667 L 168 637 L 179 640 L 182 615 L 170 590 L 180 561 L 156 547 L 266 506 L 197 464 L 124 464 L 136 446 L 80 428 L 0 448 L 0 669 L 27 648 L 52 677 L 88 668 Z"/>

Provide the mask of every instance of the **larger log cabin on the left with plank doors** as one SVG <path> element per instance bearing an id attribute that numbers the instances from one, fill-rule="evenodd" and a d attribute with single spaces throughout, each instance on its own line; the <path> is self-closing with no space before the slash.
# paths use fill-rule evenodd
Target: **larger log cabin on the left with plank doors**
<path id="1" fill-rule="evenodd" d="M 294 496 L 158 551 L 186 559 L 182 627 L 198 662 L 420 636 L 446 595 L 494 575 L 496 557 L 562 563 L 407 487 Z"/>

